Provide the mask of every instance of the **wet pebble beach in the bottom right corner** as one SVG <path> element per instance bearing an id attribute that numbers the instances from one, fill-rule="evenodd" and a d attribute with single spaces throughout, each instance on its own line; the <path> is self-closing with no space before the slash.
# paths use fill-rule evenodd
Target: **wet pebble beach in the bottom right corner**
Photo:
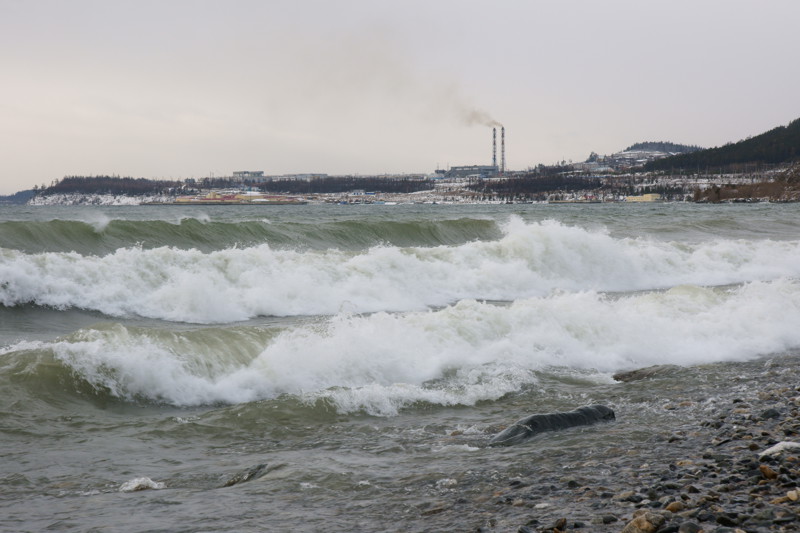
<path id="1" fill-rule="evenodd" d="M 567 475 L 533 466 L 530 476 L 509 479 L 482 502 L 474 531 L 798 531 L 800 386 L 791 379 L 797 363 L 785 362 L 791 368 L 766 373 L 779 377 L 773 386 L 687 416 L 650 447 L 621 448 L 613 461 L 588 458 Z M 690 415 L 693 404 L 673 399 L 664 408 Z"/>

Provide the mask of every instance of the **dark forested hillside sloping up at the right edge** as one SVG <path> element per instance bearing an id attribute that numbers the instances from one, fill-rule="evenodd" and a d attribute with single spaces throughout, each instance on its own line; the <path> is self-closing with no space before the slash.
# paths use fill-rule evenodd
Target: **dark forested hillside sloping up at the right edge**
<path id="1" fill-rule="evenodd" d="M 727 167 L 743 163 L 788 163 L 800 159 L 800 119 L 756 137 L 650 161 L 645 170 Z"/>

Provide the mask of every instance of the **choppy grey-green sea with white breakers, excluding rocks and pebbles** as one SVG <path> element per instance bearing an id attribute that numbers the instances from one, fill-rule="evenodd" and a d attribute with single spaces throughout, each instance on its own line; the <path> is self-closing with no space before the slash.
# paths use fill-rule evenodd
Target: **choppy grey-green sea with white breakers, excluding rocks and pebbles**
<path id="1" fill-rule="evenodd" d="M 474 528 L 426 509 L 646 446 L 798 324 L 794 205 L 4 207 L 0 528 Z M 617 422 L 485 446 L 589 403 Z"/>

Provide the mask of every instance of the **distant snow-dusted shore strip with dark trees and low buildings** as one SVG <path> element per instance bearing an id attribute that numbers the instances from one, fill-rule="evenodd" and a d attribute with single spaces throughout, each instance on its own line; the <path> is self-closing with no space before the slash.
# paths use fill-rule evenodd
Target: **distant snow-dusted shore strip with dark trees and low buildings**
<path id="1" fill-rule="evenodd" d="M 575 166 L 502 175 L 326 176 L 158 181 L 71 176 L 50 187 L 0 197 L 27 205 L 518 204 L 609 202 L 797 202 L 800 164 L 724 173 L 592 173 Z"/>

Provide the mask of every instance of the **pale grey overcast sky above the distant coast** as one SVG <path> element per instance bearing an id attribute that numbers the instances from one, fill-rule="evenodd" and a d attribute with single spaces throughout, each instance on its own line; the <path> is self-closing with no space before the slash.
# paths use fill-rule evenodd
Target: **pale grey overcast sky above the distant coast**
<path id="1" fill-rule="evenodd" d="M 0 194 L 509 169 L 800 117 L 798 0 L 0 0 Z"/>

